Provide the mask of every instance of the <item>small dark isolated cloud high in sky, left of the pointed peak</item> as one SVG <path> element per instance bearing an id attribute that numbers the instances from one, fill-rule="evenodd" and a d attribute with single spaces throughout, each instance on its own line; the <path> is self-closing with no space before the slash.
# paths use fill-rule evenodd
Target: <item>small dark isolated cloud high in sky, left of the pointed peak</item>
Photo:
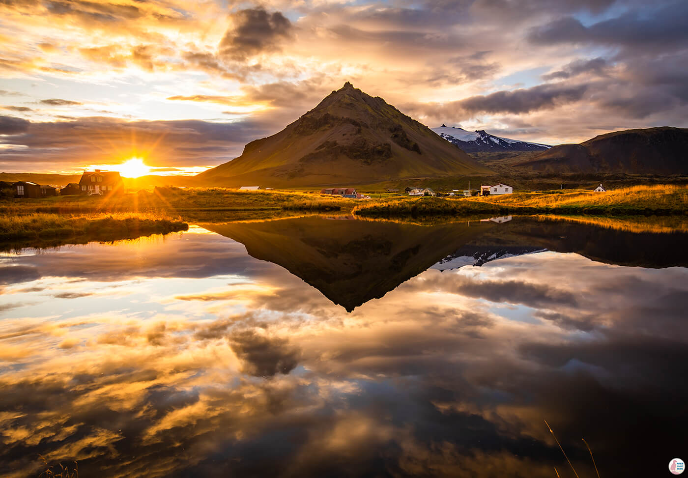
<path id="1" fill-rule="evenodd" d="M 247 8 L 233 14 L 234 26 L 227 30 L 219 50 L 228 58 L 246 60 L 262 52 L 279 50 L 279 44 L 291 35 L 292 23 L 281 12 Z"/>

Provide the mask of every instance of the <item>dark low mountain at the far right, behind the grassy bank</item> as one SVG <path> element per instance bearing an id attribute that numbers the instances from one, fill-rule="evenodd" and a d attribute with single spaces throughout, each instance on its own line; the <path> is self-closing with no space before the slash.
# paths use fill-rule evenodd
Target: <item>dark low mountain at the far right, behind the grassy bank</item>
<path id="1" fill-rule="evenodd" d="M 548 173 L 688 174 L 688 129 L 627 129 L 561 144 L 515 162 Z"/>

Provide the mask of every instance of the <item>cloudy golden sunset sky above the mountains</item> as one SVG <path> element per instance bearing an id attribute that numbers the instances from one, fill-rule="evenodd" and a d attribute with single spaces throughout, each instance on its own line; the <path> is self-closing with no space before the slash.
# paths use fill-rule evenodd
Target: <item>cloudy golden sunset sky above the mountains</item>
<path id="1" fill-rule="evenodd" d="M 5 0 L 0 171 L 190 174 L 346 81 L 546 144 L 688 127 L 688 2 Z"/>

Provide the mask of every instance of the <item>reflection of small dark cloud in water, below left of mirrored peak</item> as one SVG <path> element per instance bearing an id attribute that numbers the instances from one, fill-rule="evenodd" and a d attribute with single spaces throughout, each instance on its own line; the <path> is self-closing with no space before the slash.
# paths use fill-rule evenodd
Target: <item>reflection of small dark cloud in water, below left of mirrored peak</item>
<path id="1" fill-rule="evenodd" d="M 229 340 L 239 360 L 244 362 L 244 373 L 252 376 L 288 375 L 299 363 L 299 350 L 283 338 L 270 338 L 244 330 L 233 333 Z"/>

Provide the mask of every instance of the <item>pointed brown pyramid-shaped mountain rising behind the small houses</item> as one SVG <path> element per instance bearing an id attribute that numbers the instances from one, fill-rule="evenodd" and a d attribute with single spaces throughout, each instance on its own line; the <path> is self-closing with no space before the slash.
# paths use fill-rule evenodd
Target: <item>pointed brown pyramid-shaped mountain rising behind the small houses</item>
<path id="1" fill-rule="evenodd" d="M 428 127 L 347 82 L 279 133 L 246 144 L 241 156 L 197 179 L 222 186 L 346 186 L 491 173 Z"/>

